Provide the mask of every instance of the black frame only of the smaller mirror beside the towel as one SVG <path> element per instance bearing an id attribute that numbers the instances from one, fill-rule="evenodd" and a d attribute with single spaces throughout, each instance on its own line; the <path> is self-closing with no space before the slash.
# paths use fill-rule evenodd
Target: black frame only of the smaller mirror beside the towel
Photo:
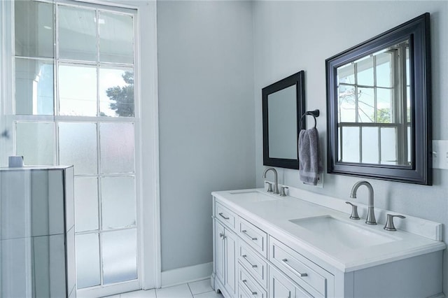
<path id="1" fill-rule="evenodd" d="M 300 132 L 300 118 L 303 113 L 305 113 L 305 87 L 304 87 L 304 71 L 299 71 L 294 73 L 283 80 L 279 80 L 267 87 L 262 88 L 262 121 L 263 121 L 263 165 L 265 166 L 276 166 L 279 168 L 286 169 L 299 169 L 299 154 L 298 147 L 295 146 L 297 152 L 297 158 L 286 159 L 286 158 L 274 158 L 269 157 L 269 121 L 268 115 L 269 111 L 267 108 L 267 97 L 269 94 L 273 94 L 287 87 L 295 85 L 295 106 L 296 106 L 296 118 L 297 118 L 297 135 L 296 143 L 298 141 Z M 305 127 L 305 120 L 302 120 L 302 127 Z"/>

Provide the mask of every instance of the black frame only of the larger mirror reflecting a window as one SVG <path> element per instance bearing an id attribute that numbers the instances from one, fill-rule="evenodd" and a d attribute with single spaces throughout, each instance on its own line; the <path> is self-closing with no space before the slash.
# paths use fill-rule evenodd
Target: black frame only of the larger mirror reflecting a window
<path id="1" fill-rule="evenodd" d="M 430 19 L 424 13 L 325 60 L 327 80 L 327 172 L 432 185 Z M 337 68 L 409 39 L 412 166 L 339 162 Z"/>

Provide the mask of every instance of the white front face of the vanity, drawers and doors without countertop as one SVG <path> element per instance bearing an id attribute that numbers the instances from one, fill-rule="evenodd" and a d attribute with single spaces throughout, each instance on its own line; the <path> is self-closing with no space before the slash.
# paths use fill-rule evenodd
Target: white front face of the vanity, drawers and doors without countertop
<path id="1" fill-rule="evenodd" d="M 214 199 L 212 285 L 225 297 L 327 297 L 331 274 L 311 266 L 317 265 Z"/>

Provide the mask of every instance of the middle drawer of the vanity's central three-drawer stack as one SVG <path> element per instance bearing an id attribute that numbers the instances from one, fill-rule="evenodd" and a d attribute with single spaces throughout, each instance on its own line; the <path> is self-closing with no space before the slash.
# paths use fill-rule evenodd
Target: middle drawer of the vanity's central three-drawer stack
<path id="1" fill-rule="evenodd" d="M 267 262 L 244 241 L 239 241 L 238 253 L 238 260 L 241 265 L 246 268 L 263 288 L 267 288 Z"/>

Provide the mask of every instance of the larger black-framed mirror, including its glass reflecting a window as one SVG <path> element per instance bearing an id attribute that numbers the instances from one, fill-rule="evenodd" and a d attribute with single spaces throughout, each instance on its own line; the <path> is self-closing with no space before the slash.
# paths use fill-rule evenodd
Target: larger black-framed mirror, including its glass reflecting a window
<path id="1" fill-rule="evenodd" d="M 327 59 L 328 173 L 430 185 L 430 72 L 429 13 Z"/>

